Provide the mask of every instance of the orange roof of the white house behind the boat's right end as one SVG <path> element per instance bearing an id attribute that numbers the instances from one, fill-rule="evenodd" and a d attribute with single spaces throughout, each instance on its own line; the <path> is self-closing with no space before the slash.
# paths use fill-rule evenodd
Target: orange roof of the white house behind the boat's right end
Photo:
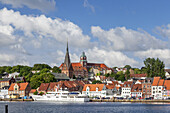
<path id="1" fill-rule="evenodd" d="M 86 91 L 86 88 L 89 87 L 89 91 L 96 91 L 96 88 L 98 88 L 98 91 L 102 91 L 104 84 L 85 84 L 82 91 Z"/>

